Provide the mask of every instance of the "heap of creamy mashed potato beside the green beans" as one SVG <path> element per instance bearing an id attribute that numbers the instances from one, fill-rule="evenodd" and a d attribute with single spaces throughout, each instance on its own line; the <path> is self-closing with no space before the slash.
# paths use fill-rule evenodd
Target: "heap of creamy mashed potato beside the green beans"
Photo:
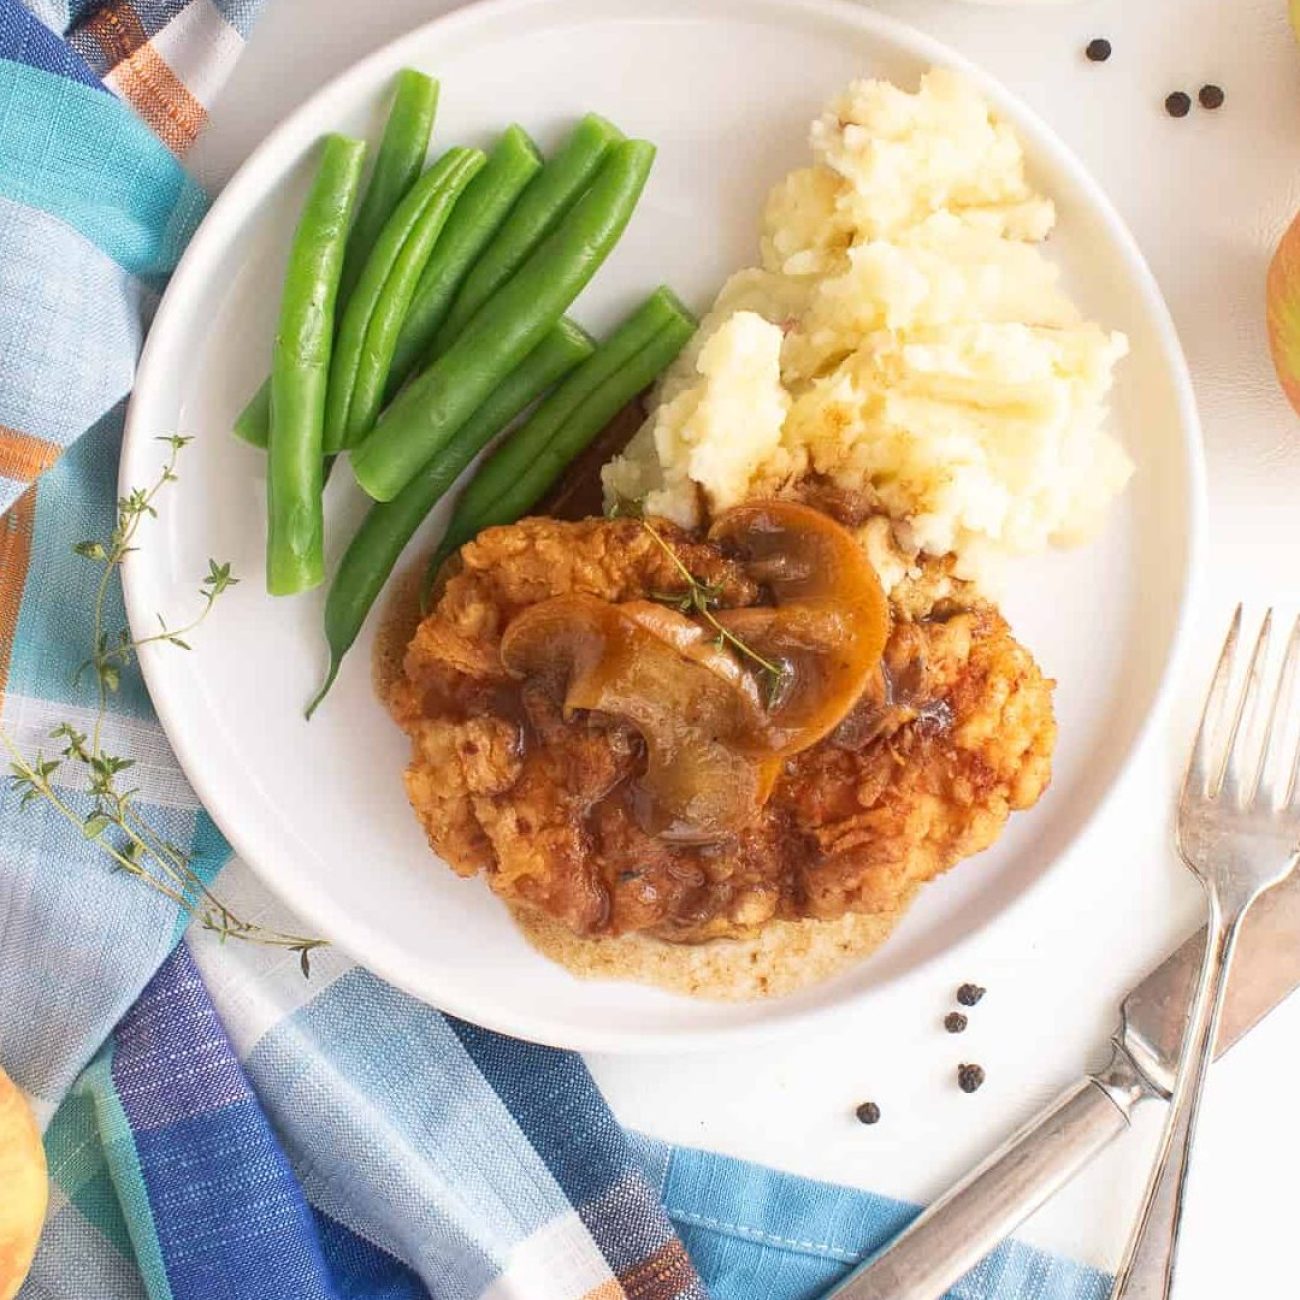
<path id="1" fill-rule="evenodd" d="M 1061 291 L 1015 134 L 935 69 L 915 94 L 855 82 L 811 146 L 607 498 L 693 526 L 815 473 L 967 576 L 1087 537 L 1132 473 L 1105 430 L 1127 341 Z"/>

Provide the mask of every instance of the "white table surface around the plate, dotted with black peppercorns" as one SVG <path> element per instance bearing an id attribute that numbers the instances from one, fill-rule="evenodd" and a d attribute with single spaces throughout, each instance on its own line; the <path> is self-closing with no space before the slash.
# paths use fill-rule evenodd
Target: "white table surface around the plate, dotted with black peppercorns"
<path id="1" fill-rule="evenodd" d="M 454 6 L 269 0 L 213 107 L 195 170 L 220 187 L 317 86 Z M 1166 810 L 1204 675 L 1234 601 L 1300 606 L 1300 419 L 1274 385 L 1264 326 L 1268 259 L 1300 207 L 1300 48 L 1286 0 L 1062 8 L 878 0 L 875 8 L 949 42 L 1028 100 L 1109 190 L 1152 263 L 1191 361 L 1209 459 L 1212 537 L 1195 680 L 1180 682 L 1164 734 L 1086 842 L 910 991 L 879 993 L 832 1027 L 774 1046 L 594 1058 L 592 1067 L 630 1126 L 926 1200 L 1098 1061 L 1124 989 L 1191 931 L 1199 894 L 1169 849 Z M 1082 57 L 1097 35 L 1114 43 L 1101 66 Z M 1169 91 L 1195 99 L 1206 81 L 1227 91 L 1218 113 L 1165 116 Z M 950 1037 L 940 1022 L 966 979 L 989 992 L 968 1032 Z M 975 1096 L 953 1087 L 963 1060 L 988 1070 Z M 1212 1075 L 1182 1300 L 1296 1294 L 1297 1071 L 1294 998 Z M 853 1119 L 866 1098 L 884 1112 L 874 1128 Z M 1158 1108 L 1147 1113 L 1024 1235 L 1113 1266 L 1158 1121 Z"/>

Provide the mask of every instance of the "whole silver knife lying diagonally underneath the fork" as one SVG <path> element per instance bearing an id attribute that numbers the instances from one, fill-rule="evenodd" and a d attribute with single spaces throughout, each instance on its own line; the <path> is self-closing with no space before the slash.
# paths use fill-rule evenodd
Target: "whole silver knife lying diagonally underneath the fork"
<path id="1" fill-rule="evenodd" d="M 1110 1063 L 1013 1134 L 900 1236 L 823 1300 L 940 1300 L 1001 1240 L 1130 1124 L 1143 1101 L 1167 1098 L 1200 931 L 1126 998 Z M 1300 878 L 1269 890 L 1247 919 L 1216 1054 L 1222 1056 L 1300 985 Z"/>

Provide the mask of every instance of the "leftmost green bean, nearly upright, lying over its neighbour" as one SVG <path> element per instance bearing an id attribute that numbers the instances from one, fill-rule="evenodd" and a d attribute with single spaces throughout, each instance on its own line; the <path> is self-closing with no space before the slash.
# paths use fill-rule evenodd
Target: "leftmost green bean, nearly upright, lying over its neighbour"
<path id="1" fill-rule="evenodd" d="M 343 247 L 364 140 L 326 135 L 294 231 L 270 363 L 266 590 L 291 595 L 325 576 L 321 436 Z"/>

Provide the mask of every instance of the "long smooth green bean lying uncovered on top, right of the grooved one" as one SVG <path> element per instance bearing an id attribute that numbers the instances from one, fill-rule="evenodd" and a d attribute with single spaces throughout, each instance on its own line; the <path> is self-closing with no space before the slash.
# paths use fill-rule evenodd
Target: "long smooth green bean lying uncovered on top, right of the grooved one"
<path id="1" fill-rule="evenodd" d="M 352 452 L 352 472 L 391 500 L 586 287 L 632 217 L 654 146 L 623 140 L 528 261 L 476 312 L 455 343 L 404 387 Z"/>

